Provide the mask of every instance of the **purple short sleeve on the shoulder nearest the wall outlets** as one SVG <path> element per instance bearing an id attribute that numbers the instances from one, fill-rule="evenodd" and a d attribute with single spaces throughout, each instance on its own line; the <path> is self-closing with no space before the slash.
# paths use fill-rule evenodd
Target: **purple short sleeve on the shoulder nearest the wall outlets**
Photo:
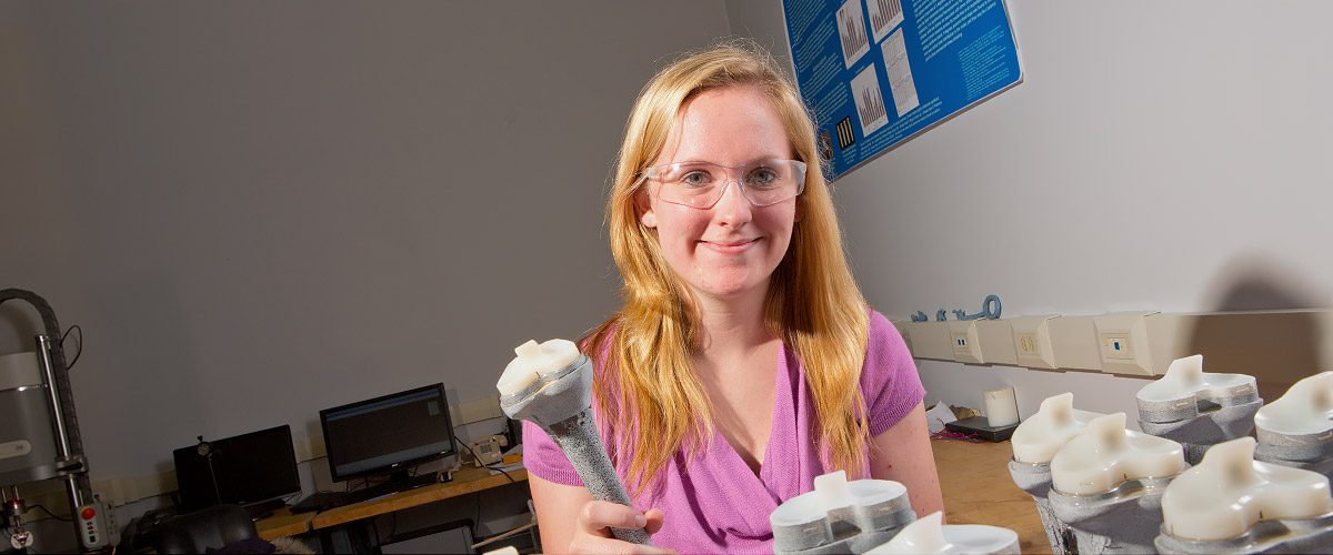
<path id="1" fill-rule="evenodd" d="M 906 417 L 925 398 L 925 387 L 898 329 L 874 310 L 870 310 L 868 339 L 861 395 L 873 438 Z"/>

